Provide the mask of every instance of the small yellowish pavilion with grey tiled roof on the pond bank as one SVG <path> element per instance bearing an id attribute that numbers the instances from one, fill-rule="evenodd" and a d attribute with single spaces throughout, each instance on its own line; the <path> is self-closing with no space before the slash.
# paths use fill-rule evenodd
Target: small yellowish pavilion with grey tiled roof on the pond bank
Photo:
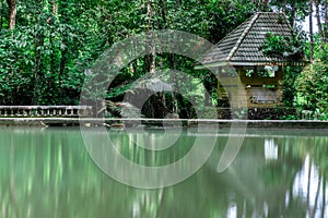
<path id="1" fill-rule="evenodd" d="M 294 33 L 284 14 L 256 13 L 203 57 L 202 64 L 218 72 L 219 99 L 238 95 L 235 78 L 239 77 L 247 90 L 249 106 L 280 101 L 282 68 L 305 65 L 306 61 L 302 52 L 280 56 L 263 51 L 270 34 L 292 39 Z M 227 65 L 234 66 L 237 74 Z"/>

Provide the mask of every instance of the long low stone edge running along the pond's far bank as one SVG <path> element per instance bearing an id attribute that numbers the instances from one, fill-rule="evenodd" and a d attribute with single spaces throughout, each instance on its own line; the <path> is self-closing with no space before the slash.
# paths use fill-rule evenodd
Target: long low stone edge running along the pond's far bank
<path id="1" fill-rule="evenodd" d="M 105 125 L 107 128 L 136 128 L 163 125 L 168 128 L 247 128 L 247 129 L 328 129 L 328 121 L 319 120 L 223 120 L 223 119 L 143 119 L 143 118 L 0 118 L 0 126 L 79 126 Z"/>

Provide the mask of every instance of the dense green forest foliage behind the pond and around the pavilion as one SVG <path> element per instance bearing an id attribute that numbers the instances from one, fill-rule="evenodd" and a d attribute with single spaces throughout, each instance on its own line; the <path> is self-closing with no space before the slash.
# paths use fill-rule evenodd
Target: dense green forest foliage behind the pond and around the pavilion
<path id="1" fill-rule="evenodd" d="M 79 104 L 85 72 L 113 44 L 133 34 L 151 29 L 179 29 L 215 44 L 255 12 L 273 10 L 285 12 L 290 23 L 300 29 L 297 22 L 309 13 L 308 2 L 305 0 L 1 0 L 0 104 Z M 314 4 L 319 9 L 317 13 L 321 19 L 318 37 L 324 41 L 328 36 L 327 2 L 318 0 Z M 280 39 L 278 36 L 268 38 L 270 39 L 266 45 L 268 52 L 278 47 L 282 49 L 283 55 L 297 53 L 302 49 L 292 39 Z M 281 43 L 291 43 L 293 46 L 289 47 L 290 50 L 284 50 L 285 47 Z M 215 76 L 208 71 L 196 71 L 195 64 L 195 60 L 177 55 L 153 53 L 141 57 L 119 72 L 109 87 L 107 99 L 120 101 L 134 81 L 157 69 L 175 69 L 192 75 L 198 81 L 195 84 L 202 83 L 210 96 L 215 99 Z M 325 68 L 319 65 L 315 66 L 314 71 L 326 73 L 323 72 Z M 289 78 L 295 81 L 297 73 L 294 73 L 293 69 L 288 72 Z M 301 92 L 301 96 L 304 94 L 302 92 L 305 92 L 304 88 L 297 90 Z M 212 101 L 200 92 L 188 95 L 206 101 L 206 105 Z M 290 105 L 295 104 L 294 95 L 295 88 L 289 92 L 286 86 L 285 101 Z M 165 95 L 161 94 L 156 98 L 163 97 Z M 188 102 L 179 96 L 168 95 L 166 98 L 172 98 L 181 108 L 188 107 Z M 309 99 L 308 101 L 316 104 Z"/>

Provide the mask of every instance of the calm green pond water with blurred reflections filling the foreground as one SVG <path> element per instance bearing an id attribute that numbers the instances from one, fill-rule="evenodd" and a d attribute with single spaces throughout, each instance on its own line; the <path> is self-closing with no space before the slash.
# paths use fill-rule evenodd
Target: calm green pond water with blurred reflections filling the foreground
<path id="1" fill-rule="evenodd" d="M 133 130 L 108 130 L 117 150 L 144 166 L 175 162 L 197 137 L 207 138 L 203 133 L 184 130 L 176 143 L 163 150 L 136 145 L 163 134 L 162 130 L 148 130 L 143 135 Z M 165 134 L 177 135 L 175 131 Z M 218 137 L 215 147 L 195 174 L 172 186 L 144 190 L 104 173 L 92 160 L 78 128 L 2 128 L 0 217 L 328 217 L 327 132 L 250 131 L 222 173 L 216 169 L 227 134 L 223 130 L 209 134 Z M 95 144 L 102 143 L 93 135 Z M 185 165 L 187 169 L 188 162 Z M 113 167 L 124 175 L 136 175 L 121 166 Z"/>

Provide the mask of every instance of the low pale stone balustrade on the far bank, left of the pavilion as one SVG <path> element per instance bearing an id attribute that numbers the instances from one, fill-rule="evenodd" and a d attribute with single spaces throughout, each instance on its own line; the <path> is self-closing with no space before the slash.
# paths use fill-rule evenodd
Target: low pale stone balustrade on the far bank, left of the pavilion
<path id="1" fill-rule="evenodd" d="M 0 106 L 0 117 L 79 117 L 92 112 L 92 106 Z"/>

